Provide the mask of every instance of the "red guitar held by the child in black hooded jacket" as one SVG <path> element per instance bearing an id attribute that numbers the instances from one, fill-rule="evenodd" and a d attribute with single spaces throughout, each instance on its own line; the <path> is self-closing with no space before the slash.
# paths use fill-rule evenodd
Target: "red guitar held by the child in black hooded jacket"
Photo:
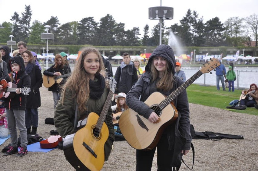
<path id="1" fill-rule="evenodd" d="M 0 98 L 13 98 L 15 96 L 17 85 L 12 82 L 7 82 L 5 79 L 0 81 L 0 84 L 3 86 L 2 91 L 0 92 Z M 31 88 L 19 88 L 20 92 L 24 95 L 28 95 L 31 92 Z"/>

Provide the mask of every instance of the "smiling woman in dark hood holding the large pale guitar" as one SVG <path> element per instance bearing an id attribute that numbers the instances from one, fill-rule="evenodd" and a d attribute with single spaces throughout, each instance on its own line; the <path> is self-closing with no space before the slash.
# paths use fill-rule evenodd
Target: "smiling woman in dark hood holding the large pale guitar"
<path id="1" fill-rule="evenodd" d="M 153 92 L 160 92 L 168 96 L 183 84 L 183 81 L 174 76 L 175 56 L 172 48 L 168 45 L 160 45 L 153 51 L 145 69 L 146 73 L 128 92 L 126 101 L 129 108 L 155 124 L 160 118 L 144 101 Z M 156 148 L 158 170 L 172 170 L 172 167 L 180 167 L 182 155 L 189 152 L 192 137 L 190 135 L 189 104 L 186 90 L 183 90 L 175 98 L 174 105 L 178 111 L 178 118 L 173 124 L 166 127 L 157 146 L 148 151 L 136 150 L 137 171 L 151 170 Z M 179 135 L 180 137 L 178 137 Z M 178 138 L 180 141 L 177 141 Z"/>

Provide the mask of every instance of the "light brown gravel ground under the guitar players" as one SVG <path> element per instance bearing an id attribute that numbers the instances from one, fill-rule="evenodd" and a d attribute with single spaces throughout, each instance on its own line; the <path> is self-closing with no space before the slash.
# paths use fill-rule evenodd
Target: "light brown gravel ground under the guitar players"
<path id="1" fill-rule="evenodd" d="M 48 138 L 51 136 L 50 131 L 55 130 L 54 125 L 45 124 L 45 118 L 54 115 L 52 92 L 49 92 L 45 87 L 42 87 L 40 91 L 41 107 L 39 108 L 38 134 L 43 138 Z M 193 170 L 258 170 L 257 116 L 190 104 L 190 120 L 195 131 L 212 131 L 244 136 L 243 140 L 193 140 L 195 148 Z M 5 141 L 0 146 L 1 150 L 9 143 L 10 139 Z M 109 160 L 104 163 L 102 170 L 135 170 L 135 152 L 126 141 L 114 142 Z M 191 166 L 192 152 L 190 151 L 183 158 Z M 75 170 L 65 159 L 64 153 L 60 149 L 51 150 L 48 153 L 29 152 L 23 157 L 1 156 L 0 168 L 2 171 Z M 152 170 L 157 170 L 155 157 Z M 188 170 L 188 168 L 182 164 L 180 170 Z"/>

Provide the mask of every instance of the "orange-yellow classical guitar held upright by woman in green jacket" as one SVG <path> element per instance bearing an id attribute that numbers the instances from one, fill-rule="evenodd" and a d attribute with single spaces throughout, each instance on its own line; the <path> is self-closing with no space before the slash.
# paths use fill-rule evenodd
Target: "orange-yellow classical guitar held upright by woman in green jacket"
<path id="1" fill-rule="evenodd" d="M 91 112 L 83 128 L 65 137 L 65 157 L 76 170 L 101 170 L 104 165 L 104 144 L 109 135 L 108 126 L 104 121 L 116 87 L 114 78 L 110 77 L 109 82 L 110 91 L 101 114 Z"/>

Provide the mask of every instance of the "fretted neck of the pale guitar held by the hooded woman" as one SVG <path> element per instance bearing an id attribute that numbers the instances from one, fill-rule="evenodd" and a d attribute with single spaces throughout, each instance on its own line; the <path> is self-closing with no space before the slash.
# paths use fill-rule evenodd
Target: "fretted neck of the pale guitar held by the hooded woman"
<path id="1" fill-rule="evenodd" d="M 172 92 L 167 98 L 158 104 L 160 109 L 164 109 L 168 104 L 170 104 L 181 92 L 183 92 L 189 85 L 191 85 L 195 80 L 197 80 L 203 73 L 198 71 L 192 77 L 190 77 L 186 82 L 180 85 L 174 92 Z"/>

